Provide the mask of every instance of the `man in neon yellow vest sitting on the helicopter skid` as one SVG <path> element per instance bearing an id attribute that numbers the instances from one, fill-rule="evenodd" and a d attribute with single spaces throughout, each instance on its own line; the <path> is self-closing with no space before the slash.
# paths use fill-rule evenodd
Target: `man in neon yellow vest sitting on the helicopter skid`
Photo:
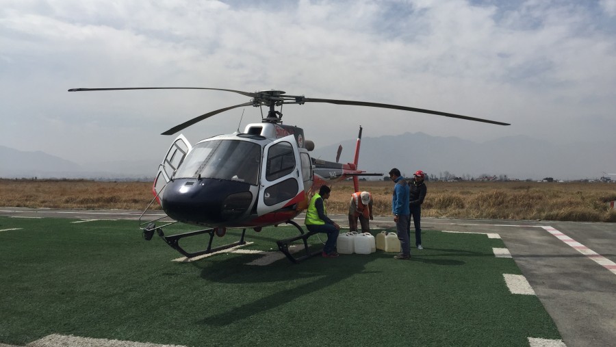
<path id="1" fill-rule="evenodd" d="M 316 231 L 317 233 L 326 233 L 327 241 L 323 247 L 323 257 L 337 257 L 338 253 L 334 250 L 340 226 L 327 216 L 325 207 L 325 199 L 329 198 L 331 189 L 327 185 L 321 185 L 319 194 L 312 196 L 306 211 L 305 224 L 308 231 Z"/>

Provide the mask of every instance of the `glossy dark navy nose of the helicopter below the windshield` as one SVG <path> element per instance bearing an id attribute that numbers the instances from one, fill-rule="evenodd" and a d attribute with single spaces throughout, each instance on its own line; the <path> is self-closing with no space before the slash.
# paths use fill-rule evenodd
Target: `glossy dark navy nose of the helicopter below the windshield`
<path id="1" fill-rule="evenodd" d="M 189 224 L 232 224 L 250 207 L 251 185 L 223 179 L 175 179 L 167 183 L 162 206 L 167 216 Z"/>

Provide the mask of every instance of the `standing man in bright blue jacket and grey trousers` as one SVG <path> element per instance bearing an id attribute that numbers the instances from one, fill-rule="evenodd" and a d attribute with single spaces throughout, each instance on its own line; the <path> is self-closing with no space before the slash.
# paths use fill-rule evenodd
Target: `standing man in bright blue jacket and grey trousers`
<path id="1" fill-rule="evenodd" d="M 394 259 L 411 259 L 411 244 L 407 233 L 409 224 L 409 183 L 400 175 L 400 170 L 392 168 L 389 170 L 389 178 L 396 182 L 394 194 L 392 195 L 392 213 L 396 222 L 396 233 L 400 240 L 400 254 Z"/>

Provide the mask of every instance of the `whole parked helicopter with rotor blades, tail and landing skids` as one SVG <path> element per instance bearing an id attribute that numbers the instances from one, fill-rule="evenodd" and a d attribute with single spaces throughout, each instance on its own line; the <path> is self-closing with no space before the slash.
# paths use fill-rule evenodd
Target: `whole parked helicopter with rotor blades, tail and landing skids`
<path id="1" fill-rule="evenodd" d="M 354 162 L 341 164 L 338 148 L 335 162 L 311 157 L 314 143 L 306 140 L 302 128 L 283 125 L 281 111 L 276 107 L 287 104 L 332 103 L 335 105 L 355 105 L 378 107 L 435 114 L 463 120 L 473 120 L 495 125 L 509 125 L 495 120 L 462 116 L 416 107 L 372 103 L 366 101 L 347 101 L 336 99 L 313 99 L 303 95 L 287 95 L 282 90 L 261 90 L 244 92 L 221 88 L 192 87 L 146 87 L 146 88 L 73 88 L 69 92 L 101 90 L 160 90 L 160 89 L 198 89 L 218 90 L 241 94 L 251 98 L 219 110 L 197 116 L 164 131 L 162 135 L 173 135 L 216 114 L 238 107 L 267 107 L 268 114 L 261 123 L 246 125 L 243 132 L 218 135 L 190 144 L 181 133 L 172 142 L 162 163 L 159 165 L 153 183 L 153 200 L 140 217 L 140 229 L 145 240 L 151 240 L 156 232 L 172 248 L 187 258 L 218 252 L 227 248 L 246 244 L 246 229 L 261 231 L 263 227 L 279 224 L 292 224 L 299 235 L 277 241 L 279 250 L 297 263 L 320 250 L 309 250 L 308 238 L 315 233 L 305 233 L 293 220 L 307 209 L 309 201 L 321 185 L 331 184 L 352 178 L 355 192 L 359 191 L 359 176 L 382 176 L 381 173 L 368 173 L 357 168 L 362 128 L 355 148 Z M 146 211 L 157 203 L 166 217 L 147 220 Z M 164 220 L 170 218 L 172 221 Z M 175 222 L 205 227 L 198 231 L 165 235 L 163 228 Z M 162 223 L 162 224 L 156 224 Z M 212 247 L 214 235 L 222 237 L 227 229 L 242 229 L 237 242 Z M 185 237 L 207 234 L 209 241 L 203 250 L 187 251 L 179 241 Z M 296 257 L 290 252 L 290 245 L 303 242 L 303 253 Z"/>

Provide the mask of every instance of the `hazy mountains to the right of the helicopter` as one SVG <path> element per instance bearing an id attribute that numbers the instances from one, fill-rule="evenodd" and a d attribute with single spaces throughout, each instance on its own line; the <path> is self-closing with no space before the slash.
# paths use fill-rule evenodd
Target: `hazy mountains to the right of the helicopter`
<path id="1" fill-rule="evenodd" d="M 356 140 L 341 142 L 340 162 L 352 162 Z M 337 145 L 318 147 L 313 155 L 335 159 Z M 411 175 L 424 170 L 439 177 L 445 171 L 458 177 L 506 175 L 510 179 L 583 179 L 600 177 L 616 166 L 616 142 L 587 142 L 558 146 L 528 136 L 509 136 L 476 143 L 455 137 L 404 133 L 363 138 L 359 167 L 389 172 L 396 167 Z"/>

